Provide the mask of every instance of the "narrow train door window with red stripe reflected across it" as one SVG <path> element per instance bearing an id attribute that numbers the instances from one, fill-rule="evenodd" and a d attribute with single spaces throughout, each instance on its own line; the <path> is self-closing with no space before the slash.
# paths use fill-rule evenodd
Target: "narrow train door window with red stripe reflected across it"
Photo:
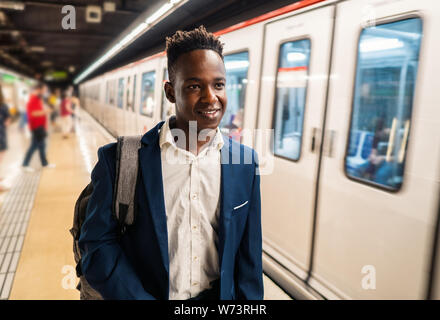
<path id="1" fill-rule="evenodd" d="M 281 45 L 273 120 L 274 154 L 295 161 L 301 154 L 309 62 L 309 39 Z"/>

